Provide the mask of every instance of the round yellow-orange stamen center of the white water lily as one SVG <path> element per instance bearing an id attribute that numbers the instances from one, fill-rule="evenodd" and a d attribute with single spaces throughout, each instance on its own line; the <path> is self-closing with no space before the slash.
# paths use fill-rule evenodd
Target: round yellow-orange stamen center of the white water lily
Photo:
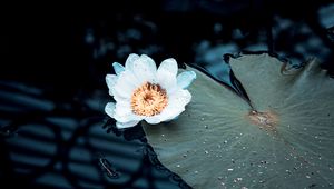
<path id="1" fill-rule="evenodd" d="M 159 84 L 145 82 L 131 96 L 132 112 L 139 116 L 158 115 L 167 105 L 167 92 Z"/>

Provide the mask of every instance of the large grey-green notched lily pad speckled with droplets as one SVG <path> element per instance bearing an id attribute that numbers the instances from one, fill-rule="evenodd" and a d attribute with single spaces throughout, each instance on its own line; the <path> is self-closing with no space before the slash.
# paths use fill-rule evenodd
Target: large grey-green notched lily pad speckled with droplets
<path id="1" fill-rule="evenodd" d="M 312 188 L 334 182 L 334 80 L 266 53 L 229 60 L 250 103 L 196 69 L 178 119 L 144 123 L 161 163 L 194 188 Z"/>

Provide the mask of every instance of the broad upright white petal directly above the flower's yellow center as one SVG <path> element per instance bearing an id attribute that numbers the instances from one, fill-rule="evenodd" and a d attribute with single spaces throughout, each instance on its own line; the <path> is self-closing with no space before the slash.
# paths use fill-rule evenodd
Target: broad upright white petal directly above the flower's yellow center
<path id="1" fill-rule="evenodd" d="M 132 63 L 132 72 L 139 82 L 155 82 L 157 66 L 155 61 L 146 54 L 141 54 L 139 59 Z"/>

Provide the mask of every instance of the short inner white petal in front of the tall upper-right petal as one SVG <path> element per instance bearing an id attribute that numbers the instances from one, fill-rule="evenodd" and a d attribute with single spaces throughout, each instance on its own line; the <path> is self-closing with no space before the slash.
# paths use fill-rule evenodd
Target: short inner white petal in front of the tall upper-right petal
<path id="1" fill-rule="evenodd" d="M 157 76 L 158 84 L 167 91 L 167 94 L 171 94 L 177 89 L 176 77 L 170 72 L 160 72 Z"/>

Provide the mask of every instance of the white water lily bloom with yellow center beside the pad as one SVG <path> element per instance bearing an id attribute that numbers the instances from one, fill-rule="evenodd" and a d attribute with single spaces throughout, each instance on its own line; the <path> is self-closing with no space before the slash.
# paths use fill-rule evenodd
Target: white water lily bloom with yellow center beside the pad
<path id="1" fill-rule="evenodd" d="M 194 79 L 194 71 L 177 76 L 175 59 L 164 60 L 159 68 L 146 54 L 131 53 L 125 67 L 112 63 L 116 74 L 107 74 L 109 94 L 116 102 L 108 102 L 105 111 L 116 119 L 117 128 L 129 128 L 145 120 L 150 125 L 169 121 L 185 111 L 191 94 L 186 89 Z"/>

